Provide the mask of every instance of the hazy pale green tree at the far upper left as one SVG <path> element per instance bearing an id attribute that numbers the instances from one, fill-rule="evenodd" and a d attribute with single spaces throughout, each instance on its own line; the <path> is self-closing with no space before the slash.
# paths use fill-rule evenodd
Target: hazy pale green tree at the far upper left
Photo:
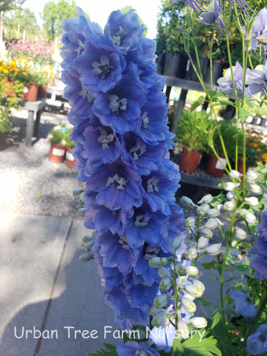
<path id="1" fill-rule="evenodd" d="M 27 39 L 33 39 L 41 34 L 41 28 L 37 25 L 37 20 L 33 11 L 25 7 L 17 7 L 4 17 L 4 28 L 6 30 L 5 40 L 21 38 L 23 30 L 27 31 Z M 19 28 L 19 31 L 18 31 Z M 20 36 L 18 36 L 20 32 Z"/>

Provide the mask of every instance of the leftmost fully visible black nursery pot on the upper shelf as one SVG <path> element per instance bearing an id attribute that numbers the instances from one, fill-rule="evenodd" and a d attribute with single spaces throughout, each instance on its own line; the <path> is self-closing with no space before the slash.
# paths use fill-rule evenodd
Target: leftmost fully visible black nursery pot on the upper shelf
<path id="1" fill-rule="evenodd" d="M 187 66 L 187 57 L 181 53 L 166 53 L 164 75 L 169 77 L 184 78 Z"/>

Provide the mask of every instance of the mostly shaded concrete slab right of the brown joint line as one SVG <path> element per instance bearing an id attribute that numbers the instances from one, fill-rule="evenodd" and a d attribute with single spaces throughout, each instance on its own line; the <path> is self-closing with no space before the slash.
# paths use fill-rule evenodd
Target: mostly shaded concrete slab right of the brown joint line
<path id="1" fill-rule="evenodd" d="M 74 220 L 66 245 L 61 269 L 59 271 L 55 292 L 62 293 L 53 297 L 46 323 L 47 330 L 58 330 L 58 339 L 42 339 L 38 356 L 86 356 L 87 352 L 94 352 L 102 346 L 104 326 L 118 329 L 113 321 L 112 310 L 104 304 L 103 287 L 96 271 L 95 261 L 79 261 L 82 237 L 90 231 L 83 226 L 83 221 Z M 74 326 L 75 330 L 97 330 L 98 338 L 83 339 L 74 329 L 68 330 L 64 326 Z M 55 335 L 55 334 L 54 334 Z M 88 335 L 84 335 L 88 336 Z M 96 335 L 95 335 L 96 336 Z M 114 342 L 107 337 L 106 342 Z"/>

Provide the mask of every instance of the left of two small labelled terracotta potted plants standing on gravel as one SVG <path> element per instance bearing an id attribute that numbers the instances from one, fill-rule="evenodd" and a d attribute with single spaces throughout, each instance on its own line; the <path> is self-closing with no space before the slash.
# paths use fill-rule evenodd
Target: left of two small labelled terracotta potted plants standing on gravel
<path id="1" fill-rule="evenodd" d="M 64 159 L 66 150 L 66 141 L 64 140 L 64 134 L 66 132 L 65 126 L 61 129 L 52 129 L 49 132 L 49 141 L 51 142 L 51 148 L 49 152 L 49 159 L 51 162 L 61 163 Z"/>

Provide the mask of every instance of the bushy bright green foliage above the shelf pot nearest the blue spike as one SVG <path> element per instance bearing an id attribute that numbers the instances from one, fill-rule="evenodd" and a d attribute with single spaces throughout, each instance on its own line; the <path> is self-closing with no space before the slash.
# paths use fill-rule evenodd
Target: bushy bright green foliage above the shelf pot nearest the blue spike
<path id="1" fill-rule="evenodd" d="M 209 115 L 204 111 L 189 111 L 183 109 L 182 116 L 177 121 L 176 140 L 180 147 L 188 151 L 205 151 L 207 140 L 205 131 L 209 127 Z"/>

